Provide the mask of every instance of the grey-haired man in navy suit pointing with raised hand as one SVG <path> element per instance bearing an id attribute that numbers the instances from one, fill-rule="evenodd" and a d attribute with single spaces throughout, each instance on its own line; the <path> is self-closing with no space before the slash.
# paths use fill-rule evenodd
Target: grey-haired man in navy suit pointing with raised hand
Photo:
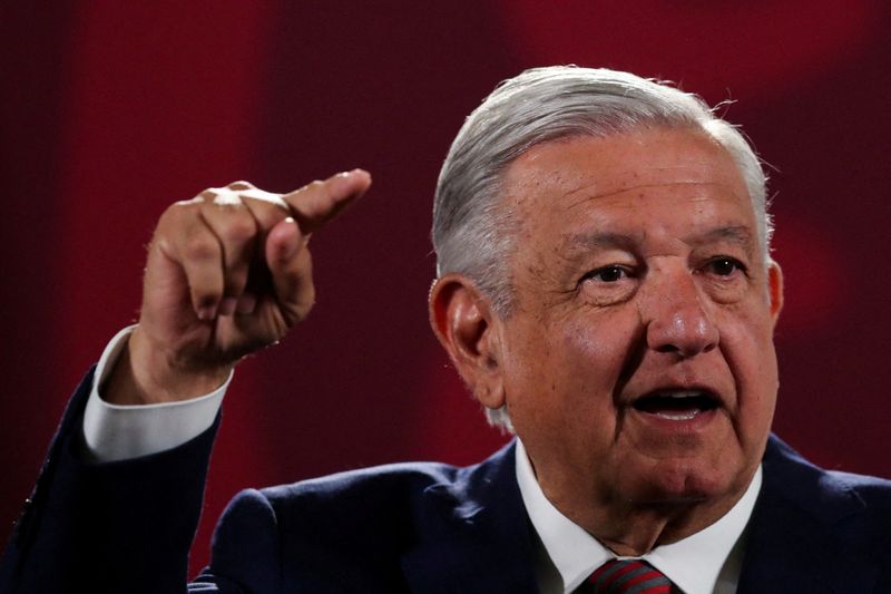
<path id="1" fill-rule="evenodd" d="M 232 368 L 309 312 L 309 236 L 369 185 L 235 183 L 161 216 L 139 323 L 72 399 L 0 583 L 182 591 Z M 757 158 L 694 96 L 581 68 L 505 82 L 443 165 L 430 319 L 517 439 L 245 491 L 190 587 L 891 591 L 891 485 L 770 436 L 771 231 Z"/>

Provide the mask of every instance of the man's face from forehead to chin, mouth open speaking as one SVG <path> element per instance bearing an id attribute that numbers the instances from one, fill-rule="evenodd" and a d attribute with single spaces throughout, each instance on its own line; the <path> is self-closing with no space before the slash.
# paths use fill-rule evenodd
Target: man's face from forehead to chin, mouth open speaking
<path id="1" fill-rule="evenodd" d="M 777 390 L 780 271 L 730 155 L 689 130 L 548 143 L 506 174 L 505 399 L 564 513 L 736 500 Z"/>

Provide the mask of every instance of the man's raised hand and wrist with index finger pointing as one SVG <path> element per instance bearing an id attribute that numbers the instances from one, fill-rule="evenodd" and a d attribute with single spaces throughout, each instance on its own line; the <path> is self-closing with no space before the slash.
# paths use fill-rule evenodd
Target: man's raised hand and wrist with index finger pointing
<path id="1" fill-rule="evenodd" d="M 139 324 L 106 400 L 195 398 L 283 339 L 315 298 L 310 235 L 370 185 L 361 169 L 284 195 L 236 182 L 168 207 L 148 249 Z"/>

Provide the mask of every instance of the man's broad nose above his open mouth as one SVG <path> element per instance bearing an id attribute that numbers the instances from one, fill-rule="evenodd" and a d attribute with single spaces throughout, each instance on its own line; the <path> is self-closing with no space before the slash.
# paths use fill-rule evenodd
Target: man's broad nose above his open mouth
<path id="1" fill-rule="evenodd" d="M 717 325 L 689 272 L 663 277 L 649 289 L 640 313 L 650 349 L 689 358 L 717 347 Z"/>

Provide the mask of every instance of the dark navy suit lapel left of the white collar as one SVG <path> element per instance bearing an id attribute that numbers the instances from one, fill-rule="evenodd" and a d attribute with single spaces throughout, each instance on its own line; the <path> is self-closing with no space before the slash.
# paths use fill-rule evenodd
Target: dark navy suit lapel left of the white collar
<path id="1" fill-rule="evenodd" d="M 533 593 L 531 526 L 515 474 L 515 445 L 424 491 L 430 523 L 402 559 L 412 592 Z"/>

